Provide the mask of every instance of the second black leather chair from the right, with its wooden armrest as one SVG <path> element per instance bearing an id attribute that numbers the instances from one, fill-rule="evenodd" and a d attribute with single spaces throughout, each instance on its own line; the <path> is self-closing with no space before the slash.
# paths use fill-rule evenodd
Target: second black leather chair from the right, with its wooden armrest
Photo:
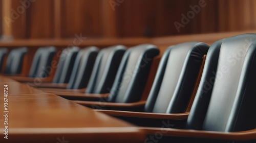
<path id="1" fill-rule="evenodd" d="M 112 110 L 128 110 L 141 112 L 101 110 L 109 115 L 117 116 L 128 122 L 134 120 L 135 124 L 147 123 L 144 117 L 151 115 L 166 118 L 168 113 L 189 112 L 190 102 L 193 102 L 201 78 L 202 67 L 209 45 L 201 42 L 186 42 L 168 47 L 164 52 L 157 74 L 146 102 L 137 104 L 113 105 Z M 155 114 L 157 113 L 157 114 Z M 141 118 L 139 118 L 141 117 Z M 141 124 L 142 123 L 142 124 Z"/>

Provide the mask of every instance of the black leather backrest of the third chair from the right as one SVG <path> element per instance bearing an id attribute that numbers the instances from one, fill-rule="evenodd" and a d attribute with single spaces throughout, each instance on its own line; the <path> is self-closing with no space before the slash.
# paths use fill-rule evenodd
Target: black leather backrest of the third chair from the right
<path id="1" fill-rule="evenodd" d="M 157 46 L 141 44 L 127 50 L 122 58 L 108 102 L 131 103 L 141 99 Z"/>

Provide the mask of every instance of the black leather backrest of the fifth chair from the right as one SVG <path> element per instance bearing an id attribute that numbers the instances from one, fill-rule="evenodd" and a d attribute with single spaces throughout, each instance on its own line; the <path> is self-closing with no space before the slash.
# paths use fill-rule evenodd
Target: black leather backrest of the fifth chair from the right
<path id="1" fill-rule="evenodd" d="M 98 55 L 98 48 L 90 46 L 78 52 L 68 83 L 68 89 L 86 88 Z"/>

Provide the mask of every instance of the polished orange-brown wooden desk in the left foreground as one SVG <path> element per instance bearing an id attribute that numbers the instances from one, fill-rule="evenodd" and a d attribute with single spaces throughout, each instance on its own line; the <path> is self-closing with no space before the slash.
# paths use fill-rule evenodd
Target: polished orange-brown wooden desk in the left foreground
<path id="1" fill-rule="evenodd" d="M 8 139 L 4 85 L 8 85 Z M 143 142 L 131 124 L 0 76 L 0 142 Z"/>

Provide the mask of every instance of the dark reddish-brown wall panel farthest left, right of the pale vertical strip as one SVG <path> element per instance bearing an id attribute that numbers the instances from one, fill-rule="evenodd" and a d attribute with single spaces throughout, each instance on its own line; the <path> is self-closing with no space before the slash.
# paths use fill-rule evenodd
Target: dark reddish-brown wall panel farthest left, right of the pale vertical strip
<path id="1" fill-rule="evenodd" d="M 54 37 L 54 1 L 29 1 L 29 7 L 24 7 L 20 1 L 12 0 L 12 9 L 17 12 L 13 22 L 14 39 L 44 39 Z M 24 11 L 18 11 L 23 7 Z"/>

